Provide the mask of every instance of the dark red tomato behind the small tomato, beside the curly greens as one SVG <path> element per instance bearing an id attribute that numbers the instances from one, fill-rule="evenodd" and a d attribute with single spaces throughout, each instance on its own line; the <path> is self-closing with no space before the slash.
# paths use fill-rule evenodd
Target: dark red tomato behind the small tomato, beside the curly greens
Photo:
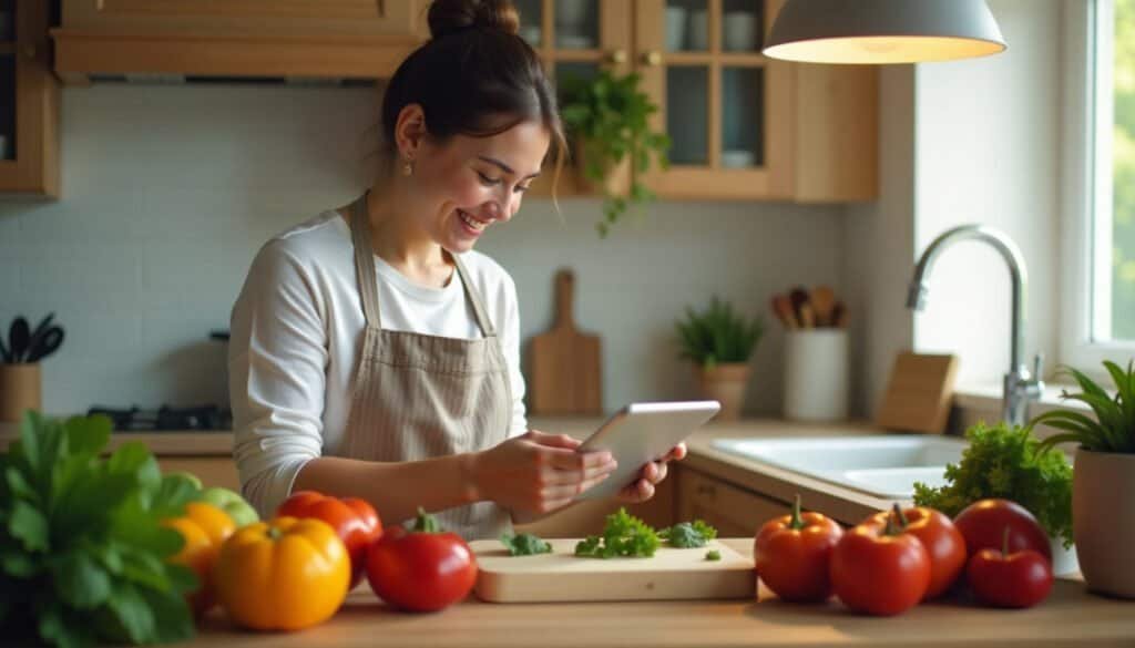
<path id="1" fill-rule="evenodd" d="M 1033 549 L 1052 562 L 1049 535 L 1027 508 L 1008 499 L 982 499 L 966 506 L 953 517 L 953 524 L 966 539 L 969 555 L 982 549 L 1000 549 L 1006 528 L 1009 529 L 1009 552 Z"/>

